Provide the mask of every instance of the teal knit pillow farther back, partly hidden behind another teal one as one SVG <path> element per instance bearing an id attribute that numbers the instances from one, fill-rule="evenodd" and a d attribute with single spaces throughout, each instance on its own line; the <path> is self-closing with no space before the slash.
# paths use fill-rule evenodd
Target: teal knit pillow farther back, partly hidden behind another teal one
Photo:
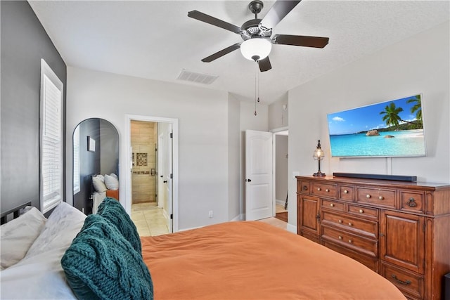
<path id="1" fill-rule="evenodd" d="M 105 197 L 103 202 L 98 205 L 97 214 L 110 221 L 130 242 L 136 252 L 142 255 L 141 238 L 138 230 L 119 201 L 111 197 Z"/>

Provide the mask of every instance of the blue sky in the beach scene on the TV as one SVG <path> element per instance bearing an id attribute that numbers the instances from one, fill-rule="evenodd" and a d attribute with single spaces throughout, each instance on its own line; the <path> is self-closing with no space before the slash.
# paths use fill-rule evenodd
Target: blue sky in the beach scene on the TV
<path id="1" fill-rule="evenodd" d="M 406 103 L 406 101 L 415 97 L 411 96 L 329 114 L 327 118 L 330 135 L 352 134 L 387 127 L 383 121 L 384 115 L 380 115 L 380 112 L 383 112 L 386 105 L 390 105 L 391 102 L 394 102 L 396 107 L 403 108 L 399 117 L 411 122 L 416 119 L 416 113 L 411 113 L 411 107 L 415 103 Z"/>

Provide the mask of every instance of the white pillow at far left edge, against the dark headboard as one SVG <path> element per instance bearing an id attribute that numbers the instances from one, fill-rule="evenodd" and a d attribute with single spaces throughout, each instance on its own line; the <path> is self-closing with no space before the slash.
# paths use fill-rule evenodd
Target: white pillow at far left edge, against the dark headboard
<path id="1" fill-rule="evenodd" d="M 44 228 L 46 218 L 36 207 L 27 207 L 25 214 L 1 226 L 1 270 L 18 263 Z"/>

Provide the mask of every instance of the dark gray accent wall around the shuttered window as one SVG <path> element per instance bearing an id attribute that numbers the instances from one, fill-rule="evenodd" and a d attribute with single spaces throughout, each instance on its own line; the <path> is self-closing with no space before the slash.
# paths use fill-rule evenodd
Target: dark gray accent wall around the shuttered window
<path id="1" fill-rule="evenodd" d="M 41 58 L 64 84 L 65 169 L 66 65 L 27 1 L 0 1 L 1 8 L 1 211 L 39 202 L 39 103 Z M 65 171 L 63 171 L 65 174 Z M 63 182 L 65 195 L 65 178 Z"/>

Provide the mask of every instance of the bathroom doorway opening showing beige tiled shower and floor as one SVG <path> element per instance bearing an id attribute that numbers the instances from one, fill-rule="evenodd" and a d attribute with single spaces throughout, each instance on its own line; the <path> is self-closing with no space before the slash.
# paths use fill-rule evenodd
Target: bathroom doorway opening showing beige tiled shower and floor
<path id="1" fill-rule="evenodd" d="M 129 116 L 127 205 L 141 236 L 174 230 L 174 123 L 161 118 Z"/>

